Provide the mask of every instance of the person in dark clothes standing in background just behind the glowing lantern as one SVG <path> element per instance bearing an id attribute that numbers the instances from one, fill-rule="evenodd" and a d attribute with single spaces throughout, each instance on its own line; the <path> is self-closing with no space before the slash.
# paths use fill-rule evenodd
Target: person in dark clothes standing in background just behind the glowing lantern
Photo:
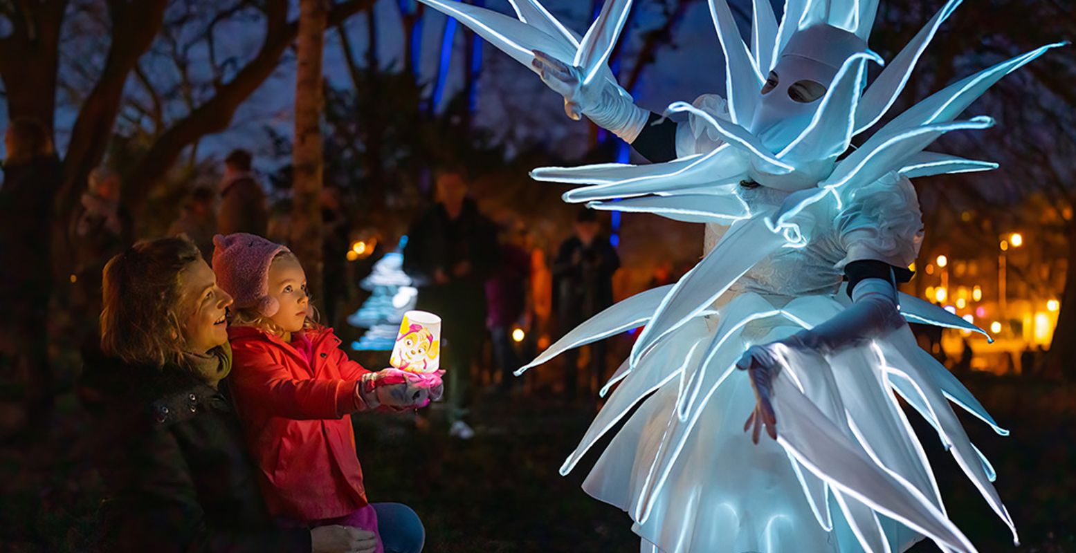
<path id="1" fill-rule="evenodd" d="M 496 230 L 467 196 L 459 169 L 437 173 L 438 202 L 419 217 L 404 247 L 404 270 L 420 287 L 417 309 L 441 316 L 442 366 L 454 436 L 473 430 L 463 421 L 469 402 L 470 369 L 485 326 L 484 282 L 497 263 Z"/>

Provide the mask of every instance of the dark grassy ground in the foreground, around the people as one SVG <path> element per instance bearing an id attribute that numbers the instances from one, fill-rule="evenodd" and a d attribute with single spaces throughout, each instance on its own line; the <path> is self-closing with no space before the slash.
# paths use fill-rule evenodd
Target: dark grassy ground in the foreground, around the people
<path id="1" fill-rule="evenodd" d="M 994 436 L 965 419 L 997 470 L 1023 544 L 1013 547 L 951 457 L 926 439 L 933 430 L 920 426 L 950 515 L 982 553 L 1076 552 L 1076 388 L 988 375 L 969 386 L 1013 431 Z M 470 416 L 478 436 L 468 441 L 412 415 L 356 417 L 368 494 L 412 506 L 426 525 L 427 552 L 638 551 L 626 514 L 579 487 L 593 455 L 578 473 L 557 473 L 592 409 L 554 397 L 483 396 Z M 85 548 L 103 495 L 85 434 L 81 409 L 65 395 L 47 436 L 0 446 L 0 551 Z M 930 551 L 937 550 L 912 549 Z"/>

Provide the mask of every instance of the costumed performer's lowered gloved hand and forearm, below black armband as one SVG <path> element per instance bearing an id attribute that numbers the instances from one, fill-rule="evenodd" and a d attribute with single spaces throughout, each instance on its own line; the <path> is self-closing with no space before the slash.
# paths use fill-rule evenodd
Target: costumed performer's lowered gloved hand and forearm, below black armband
<path id="1" fill-rule="evenodd" d="M 809 330 L 801 330 L 783 340 L 748 348 L 736 368 L 750 373 L 755 408 L 744 424 L 752 429 L 752 441 L 759 443 L 763 426 L 770 438 L 777 439 L 777 417 L 774 415 L 774 379 L 781 370 L 780 359 L 805 361 L 804 357 L 822 357 L 889 332 L 904 324 L 897 311 L 896 289 L 881 279 L 864 279 L 852 290 L 852 306 L 833 318 Z M 796 359 L 799 357 L 799 359 Z"/>

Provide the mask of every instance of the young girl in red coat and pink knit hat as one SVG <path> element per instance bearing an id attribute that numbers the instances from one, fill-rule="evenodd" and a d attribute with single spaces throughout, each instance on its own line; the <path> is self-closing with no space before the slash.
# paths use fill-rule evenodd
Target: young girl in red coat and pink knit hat
<path id="1" fill-rule="evenodd" d="M 287 247 L 242 232 L 213 242 L 213 269 L 235 298 L 230 381 L 270 511 L 289 524 L 373 530 L 377 551 L 417 553 L 417 515 L 367 502 L 346 415 L 423 407 L 440 397 L 440 380 L 349 359 L 332 329 L 314 322 L 306 273 Z"/>

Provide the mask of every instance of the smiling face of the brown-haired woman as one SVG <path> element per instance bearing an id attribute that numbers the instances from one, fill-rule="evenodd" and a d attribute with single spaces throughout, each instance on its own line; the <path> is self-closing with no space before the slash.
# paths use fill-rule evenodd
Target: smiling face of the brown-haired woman
<path id="1" fill-rule="evenodd" d="M 192 352 L 206 353 L 228 341 L 225 313 L 231 296 L 216 285 L 216 275 L 198 259 L 180 273 L 180 324 Z"/>

